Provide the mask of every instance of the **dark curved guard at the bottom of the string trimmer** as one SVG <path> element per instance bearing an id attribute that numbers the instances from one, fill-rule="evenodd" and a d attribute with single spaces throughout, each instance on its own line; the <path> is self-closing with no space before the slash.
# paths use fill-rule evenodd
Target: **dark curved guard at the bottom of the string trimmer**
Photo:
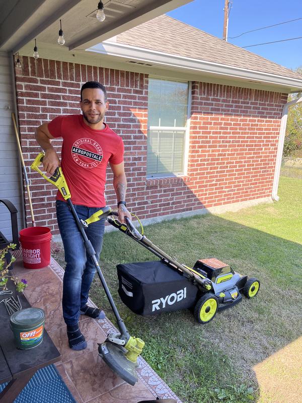
<path id="1" fill-rule="evenodd" d="M 125 356 L 126 353 L 126 349 L 111 343 L 108 339 L 99 345 L 99 355 L 105 363 L 124 381 L 134 386 L 138 381 L 136 373 L 137 363 L 128 360 Z"/>

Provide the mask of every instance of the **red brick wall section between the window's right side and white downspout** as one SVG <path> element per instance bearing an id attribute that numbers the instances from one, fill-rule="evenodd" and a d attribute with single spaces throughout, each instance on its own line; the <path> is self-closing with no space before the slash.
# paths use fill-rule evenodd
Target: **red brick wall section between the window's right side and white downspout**
<path id="1" fill-rule="evenodd" d="M 193 83 L 189 188 L 205 207 L 271 195 L 287 94 Z"/>

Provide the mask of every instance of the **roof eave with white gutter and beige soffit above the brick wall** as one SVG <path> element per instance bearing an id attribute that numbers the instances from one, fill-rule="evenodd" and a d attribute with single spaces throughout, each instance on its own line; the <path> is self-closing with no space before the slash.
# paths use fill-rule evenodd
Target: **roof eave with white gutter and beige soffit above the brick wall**
<path id="1" fill-rule="evenodd" d="M 123 50 L 123 54 L 121 54 L 121 50 Z M 109 41 L 100 44 L 98 49 L 93 47 L 87 50 L 74 51 L 69 51 L 65 46 L 58 47 L 55 44 L 40 43 L 39 45 L 41 58 L 143 73 L 167 80 L 200 81 L 281 93 L 297 92 L 302 88 L 302 81 L 299 82 L 295 79 L 267 75 L 256 71 L 245 71 L 234 66 L 191 60 L 187 57 L 182 58 L 148 51 L 147 49 L 136 48 L 136 50 L 139 51 L 139 54 L 134 55 L 129 46 L 121 46 L 121 44 Z M 20 49 L 20 55 L 33 56 L 30 43 Z"/>

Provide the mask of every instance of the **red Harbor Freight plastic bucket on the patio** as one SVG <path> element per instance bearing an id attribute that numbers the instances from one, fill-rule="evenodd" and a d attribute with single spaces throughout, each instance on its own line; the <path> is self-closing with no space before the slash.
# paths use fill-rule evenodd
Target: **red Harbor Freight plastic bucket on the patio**
<path id="1" fill-rule="evenodd" d="M 46 267 L 50 263 L 51 232 L 47 227 L 30 227 L 19 232 L 25 268 Z"/>

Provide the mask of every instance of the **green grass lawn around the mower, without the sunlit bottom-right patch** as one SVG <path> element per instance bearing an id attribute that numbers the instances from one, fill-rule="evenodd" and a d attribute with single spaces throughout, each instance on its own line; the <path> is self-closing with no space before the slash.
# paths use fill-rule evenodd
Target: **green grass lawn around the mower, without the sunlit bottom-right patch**
<path id="1" fill-rule="evenodd" d="M 116 264 L 156 257 L 120 232 L 104 238 L 101 267 L 142 356 L 184 403 L 256 401 L 253 366 L 301 336 L 302 180 L 280 179 L 277 203 L 236 213 L 195 216 L 145 227 L 179 262 L 217 257 L 261 282 L 258 296 L 198 324 L 189 310 L 142 317 L 122 304 Z M 115 323 L 98 278 L 91 298 Z M 261 403 L 266 403 L 264 400 Z"/>

